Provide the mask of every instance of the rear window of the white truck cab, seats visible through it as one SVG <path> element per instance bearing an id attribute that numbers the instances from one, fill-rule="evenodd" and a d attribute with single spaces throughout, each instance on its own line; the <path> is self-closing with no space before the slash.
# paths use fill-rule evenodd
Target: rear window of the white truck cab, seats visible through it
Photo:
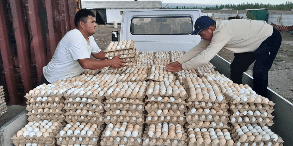
<path id="1" fill-rule="evenodd" d="M 193 31 L 192 19 L 184 17 L 135 17 L 131 20 L 133 35 L 190 34 Z"/>

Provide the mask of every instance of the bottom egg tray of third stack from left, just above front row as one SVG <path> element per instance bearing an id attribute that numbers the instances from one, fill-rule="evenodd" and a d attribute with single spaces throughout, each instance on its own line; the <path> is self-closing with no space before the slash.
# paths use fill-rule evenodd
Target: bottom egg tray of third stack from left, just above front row
<path id="1" fill-rule="evenodd" d="M 129 114 L 128 112 L 126 114 L 122 114 L 121 112 L 119 114 L 116 114 L 113 112 L 110 114 L 109 112 L 106 112 L 104 115 L 104 121 L 106 124 L 113 123 L 116 124 L 117 122 L 127 122 L 127 123 L 138 123 L 143 124 L 144 123 L 144 114 Z"/>

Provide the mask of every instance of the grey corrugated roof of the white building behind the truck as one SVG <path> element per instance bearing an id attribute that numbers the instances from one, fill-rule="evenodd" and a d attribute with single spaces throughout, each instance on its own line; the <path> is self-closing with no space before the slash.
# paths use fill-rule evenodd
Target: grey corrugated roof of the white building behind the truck
<path id="1" fill-rule="evenodd" d="M 161 8 L 162 1 L 81 1 L 82 8 Z"/>

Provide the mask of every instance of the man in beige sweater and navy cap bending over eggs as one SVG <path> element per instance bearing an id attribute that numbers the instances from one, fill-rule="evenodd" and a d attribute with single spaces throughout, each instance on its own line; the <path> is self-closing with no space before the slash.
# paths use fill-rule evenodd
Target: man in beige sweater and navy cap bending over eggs
<path id="1" fill-rule="evenodd" d="M 267 96 L 268 71 L 280 48 L 282 36 L 265 21 L 250 19 L 212 20 L 201 16 L 195 21 L 192 35 L 201 41 L 176 62 L 166 65 L 167 71 L 200 67 L 210 61 L 222 48 L 235 53 L 231 63 L 231 80 L 242 84 L 242 73 L 253 66 L 253 90 Z M 202 52 L 203 51 L 203 52 Z"/>

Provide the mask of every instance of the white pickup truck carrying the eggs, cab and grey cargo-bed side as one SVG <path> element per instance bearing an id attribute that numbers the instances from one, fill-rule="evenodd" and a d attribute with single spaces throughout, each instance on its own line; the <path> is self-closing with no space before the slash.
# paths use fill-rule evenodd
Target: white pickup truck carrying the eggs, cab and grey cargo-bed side
<path id="1" fill-rule="evenodd" d="M 195 20 L 202 16 L 200 9 L 151 9 L 124 11 L 120 40 L 132 39 L 138 51 L 188 51 L 198 44 L 200 36 L 193 36 Z M 112 40 L 118 41 L 117 31 Z M 216 55 L 212 60 L 216 70 L 230 78 L 230 63 Z M 253 79 L 243 73 L 243 84 L 253 87 Z M 280 135 L 284 146 L 293 145 L 293 104 L 269 89 L 268 98 L 274 102 L 275 123 L 270 128 Z"/>

